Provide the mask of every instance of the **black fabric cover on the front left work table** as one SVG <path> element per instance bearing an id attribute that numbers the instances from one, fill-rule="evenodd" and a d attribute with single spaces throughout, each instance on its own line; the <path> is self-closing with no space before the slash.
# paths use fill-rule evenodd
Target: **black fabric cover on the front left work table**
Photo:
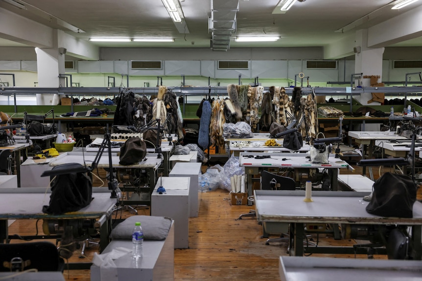
<path id="1" fill-rule="evenodd" d="M 93 180 L 90 172 L 73 173 L 74 169 L 83 169 L 78 163 L 68 163 L 53 167 L 52 171 L 63 170 L 69 173 L 56 175 L 51 182 L 51 195 L 48 206 L 43 206 L 43 212 L 60 215 L 75 212 L 92 201 Z"/>

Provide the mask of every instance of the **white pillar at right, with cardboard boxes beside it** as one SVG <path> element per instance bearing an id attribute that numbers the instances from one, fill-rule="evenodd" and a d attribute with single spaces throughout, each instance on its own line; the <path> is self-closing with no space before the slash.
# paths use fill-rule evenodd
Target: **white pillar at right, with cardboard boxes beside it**
<path id="1" fill-rule="evenodd" d="M 384 48 L 368 47 L 368 30 L 361 29 L 356 31 L 354 73 L 363 73 L 363 76 L 379 76 L 378 82 L 382 82 L 382 55 Z M 363 77 L 362 77 L 363 78 Z M 355 84 L 356 85 L 356 84 Z M 361 86 L 371 86 L 370 79 L 362 79 Z M 368 105 L 368 101 L 372 99 L 371 93 L 363 93 L 360 95 L 360 103 Z M 380 105 L 373 102 L 370 105 Z"/>

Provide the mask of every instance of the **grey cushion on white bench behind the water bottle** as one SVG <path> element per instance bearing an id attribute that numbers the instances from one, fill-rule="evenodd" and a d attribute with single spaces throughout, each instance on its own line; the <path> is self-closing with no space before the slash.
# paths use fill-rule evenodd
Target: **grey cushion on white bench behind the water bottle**
<path id="1" fill-rule="evenodd" d="M 130 216 L 110 234 L 112 239 L 132 239 L 135 222 L 141 222 L 144 240 L 164 240 L 171 227 L 171 218 L 164 216 Z"/>

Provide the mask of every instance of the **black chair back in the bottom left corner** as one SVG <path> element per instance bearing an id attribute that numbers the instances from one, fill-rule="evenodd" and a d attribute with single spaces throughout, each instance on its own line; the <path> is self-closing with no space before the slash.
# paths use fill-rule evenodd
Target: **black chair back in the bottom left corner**
<path id="1" fill-rule="evenodd" d="M 56 246 L 48 241 L 0 244 L 0 271 L 64 270 L 64 260 Z"/>

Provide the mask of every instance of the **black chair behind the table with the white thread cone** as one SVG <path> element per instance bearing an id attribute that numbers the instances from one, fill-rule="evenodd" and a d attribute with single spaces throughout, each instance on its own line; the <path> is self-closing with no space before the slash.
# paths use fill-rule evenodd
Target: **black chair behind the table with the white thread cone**
<path id="1" fill-rule="evenodd" d="M 261 189 L 264 190 L 296 190 L 296 182 L 294 179 L 286 176 L 270 173 L 268 171 L 262 171 L 261 173 Z M 263 226 L 263 237 L 268 237 L 269 233 L 280 233 L 279 238 L 268 238 L 265 245 L 269 245 L 270 242 L 282 242 L 288 240 L 288 235 L 283 233 L 288 232 L 289 224 L 285 222 L 264 222 Z"/>

